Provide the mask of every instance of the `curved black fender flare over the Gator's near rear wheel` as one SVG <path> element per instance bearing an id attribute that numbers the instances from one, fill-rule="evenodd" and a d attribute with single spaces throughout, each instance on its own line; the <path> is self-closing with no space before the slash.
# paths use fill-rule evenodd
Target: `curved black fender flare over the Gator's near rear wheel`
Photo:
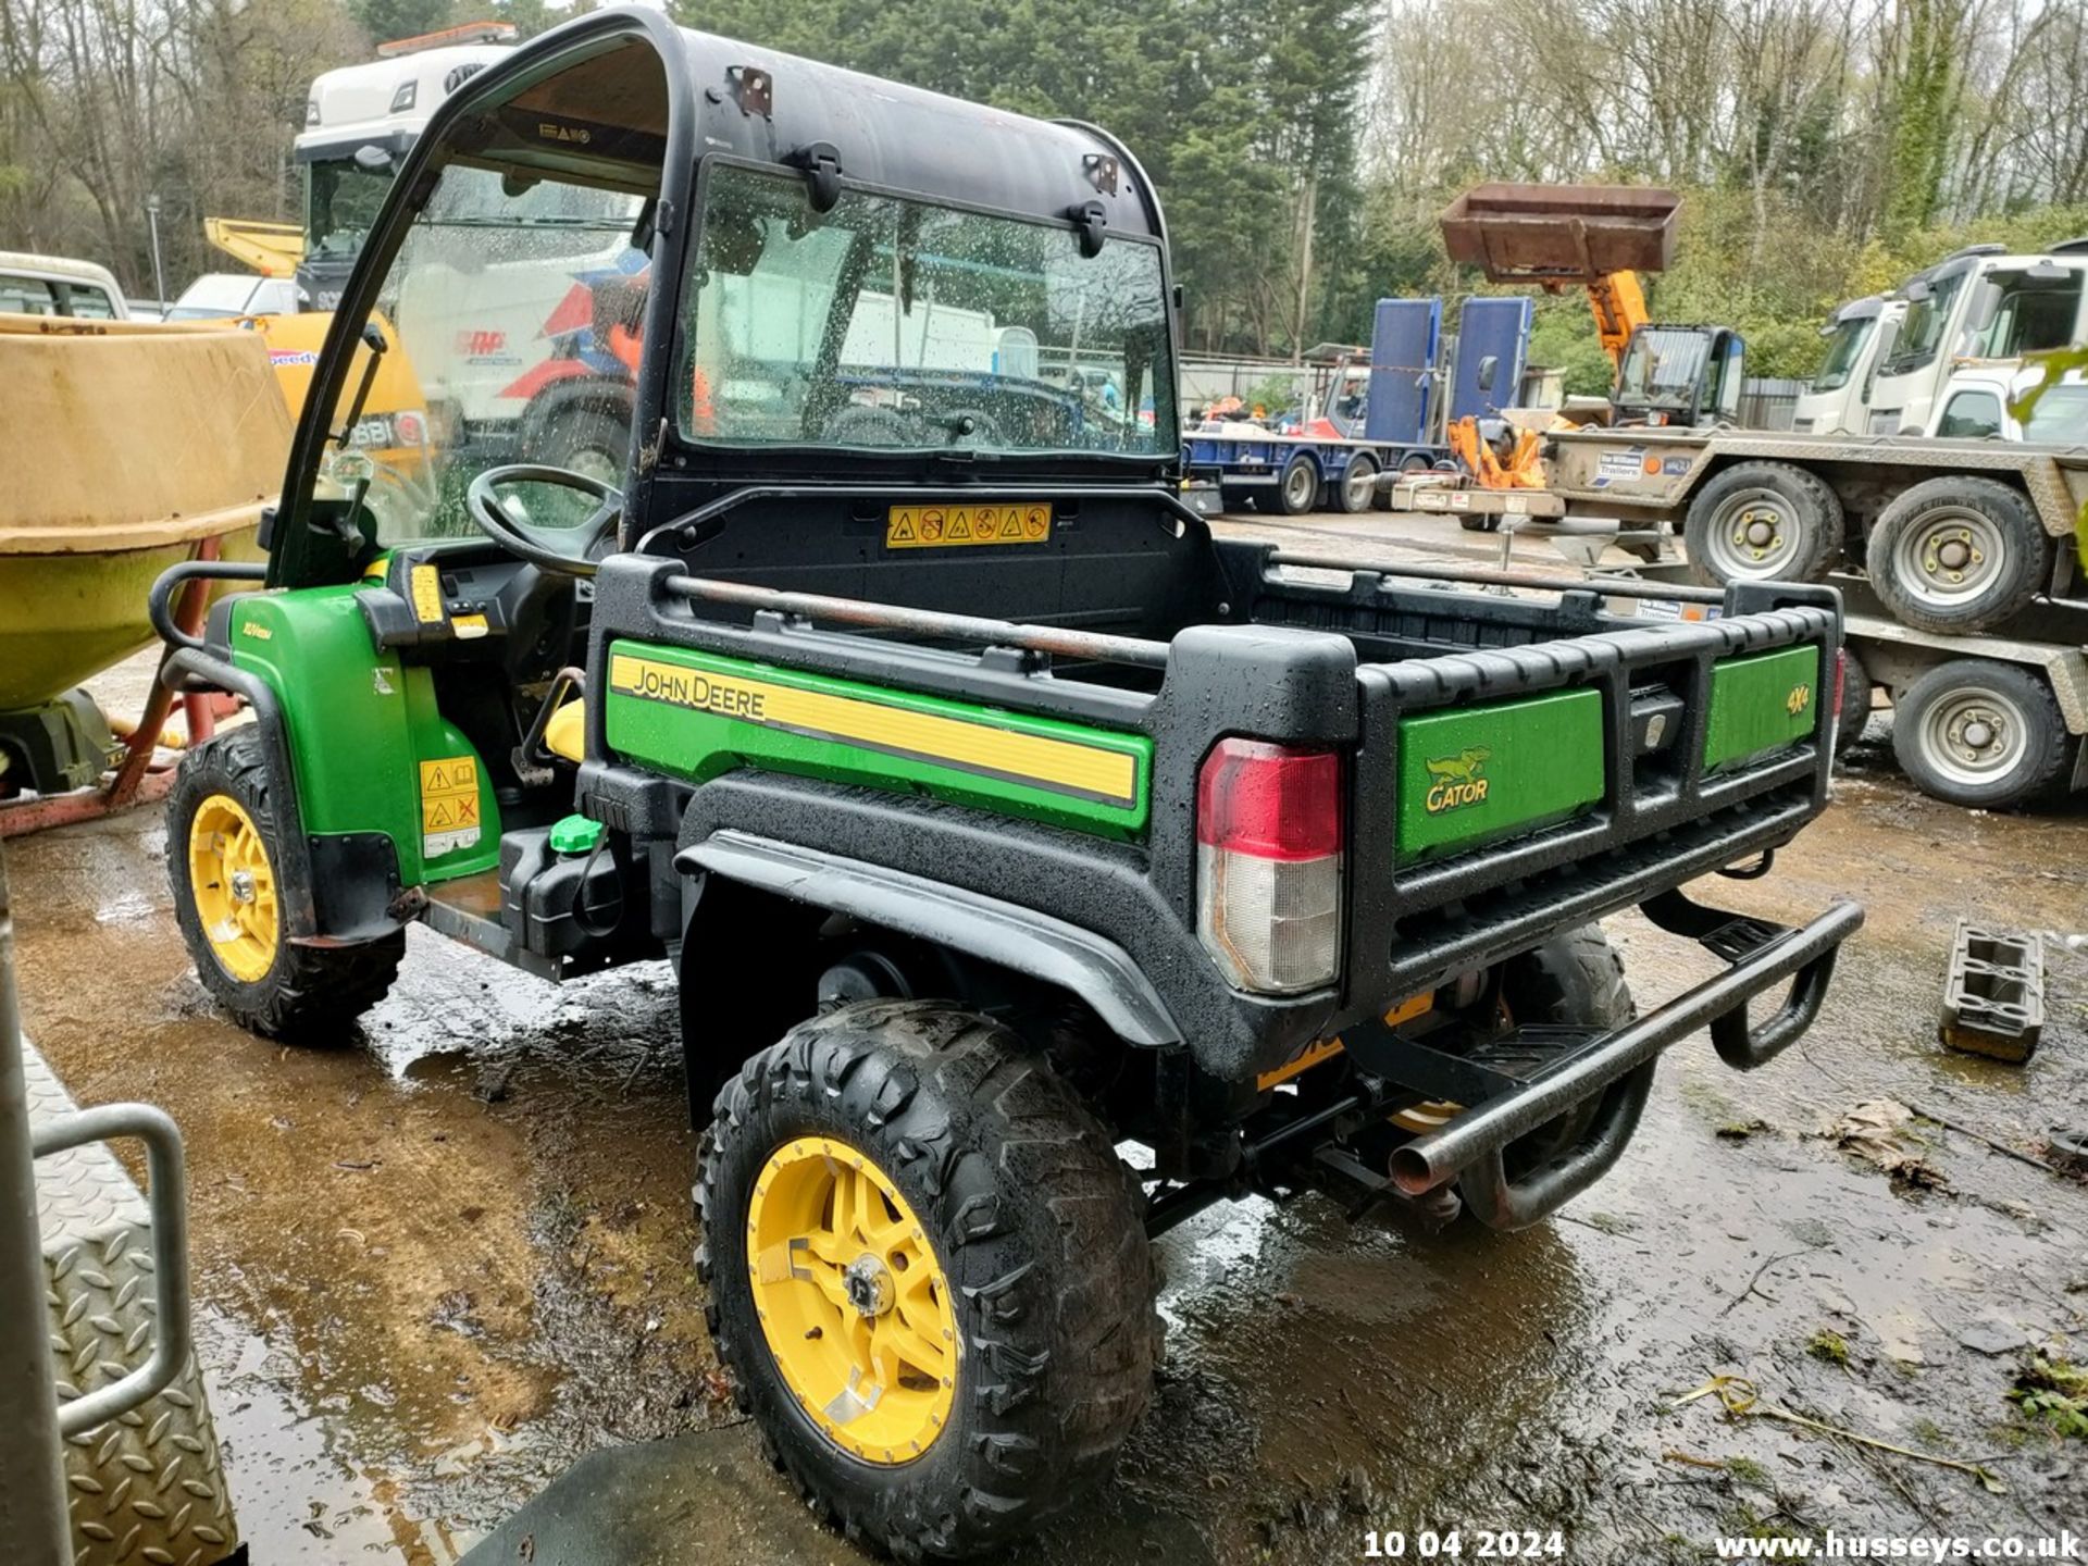
<path id="1" fill-rule="evenodd" d="M 1067 990 L 1125 1044 L 1165 1048 L 1182 1029 L 1132 956 L 1105 935 L 1000 898 L 864 860 L 720 827 L 674 856 L 791 902 L 850 915 Z"/>

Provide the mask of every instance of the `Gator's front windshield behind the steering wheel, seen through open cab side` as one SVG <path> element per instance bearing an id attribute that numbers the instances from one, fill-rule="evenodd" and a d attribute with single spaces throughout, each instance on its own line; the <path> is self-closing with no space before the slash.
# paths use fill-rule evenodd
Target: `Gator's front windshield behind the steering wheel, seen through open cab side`
<path id="1" fill-rule="evenodd" d="M 537 461 L 622 484 L 631 449 L 639 198 L 445 167 L 378 288 L 388 351 L 357 407 L 370 349 L 340 380 L 315 499 L 361 489 L 380 543 L 474 530 L 464 491 Z M 526 518 L 537 524 L 570 518 Z"/>

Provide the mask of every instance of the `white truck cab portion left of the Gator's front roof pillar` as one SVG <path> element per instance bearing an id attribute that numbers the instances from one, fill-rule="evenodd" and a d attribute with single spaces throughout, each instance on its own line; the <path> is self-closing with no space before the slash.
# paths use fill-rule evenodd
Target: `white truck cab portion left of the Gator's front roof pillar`
<path id="1" fill-rule="evenodd" d="M 367 65 L 322 73 L 290 146 L 305 186 L 307 309 L 334 309 L 405 152 L 461 81 L 512 52 L 509 23 L 470 23 L 378 44 Z"/>

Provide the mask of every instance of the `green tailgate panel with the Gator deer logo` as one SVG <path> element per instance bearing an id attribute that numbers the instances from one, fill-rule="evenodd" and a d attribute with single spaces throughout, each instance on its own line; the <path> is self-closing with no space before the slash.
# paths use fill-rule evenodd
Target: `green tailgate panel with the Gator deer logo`
<path id="1" fill-rule="evenodd" d="M 1601 695 L 1553 691 L 1399 720 L 1399 854 L 1566 821 L 1604 793 Z"/>

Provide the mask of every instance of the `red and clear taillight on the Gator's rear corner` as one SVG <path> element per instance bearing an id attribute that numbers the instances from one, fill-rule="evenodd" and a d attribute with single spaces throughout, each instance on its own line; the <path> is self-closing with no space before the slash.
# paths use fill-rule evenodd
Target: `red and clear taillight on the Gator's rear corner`
<path id="1" fill-rule="evenodd" d="M 1340 973 L 1340 758 L 1221 739 L 1196 775 L 1196 935 L 1242 990 Z"/>

